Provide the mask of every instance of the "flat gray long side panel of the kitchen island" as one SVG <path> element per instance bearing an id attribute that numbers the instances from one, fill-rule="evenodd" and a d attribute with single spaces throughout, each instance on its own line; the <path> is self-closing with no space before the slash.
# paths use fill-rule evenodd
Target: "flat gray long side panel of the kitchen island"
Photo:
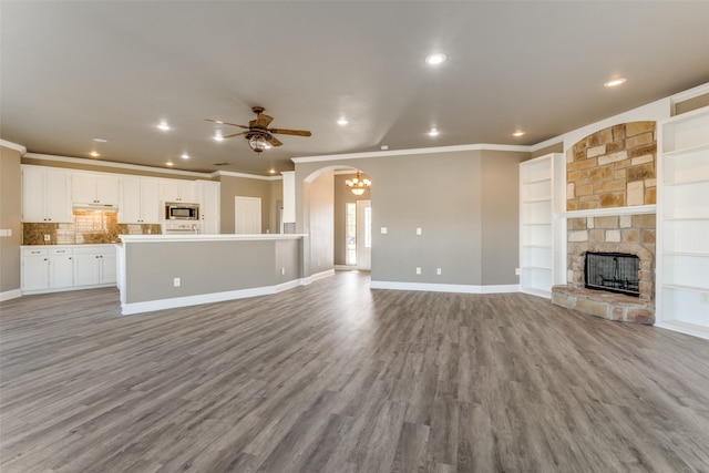
<path id="1" fill-rule="evenodd" d="M 125 302 L 275 286 L 275 267 L 274 240 L 130 243 Z"/>

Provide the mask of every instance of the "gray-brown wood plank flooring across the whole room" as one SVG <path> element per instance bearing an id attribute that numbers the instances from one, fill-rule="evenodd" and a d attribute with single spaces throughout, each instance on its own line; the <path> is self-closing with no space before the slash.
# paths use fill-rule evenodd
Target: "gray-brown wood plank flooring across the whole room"
<path id="1" fill-rule="evenodd" d="M 709 342 L 521 294 L 0 305 L 0 471 L 709 472 Z"/>

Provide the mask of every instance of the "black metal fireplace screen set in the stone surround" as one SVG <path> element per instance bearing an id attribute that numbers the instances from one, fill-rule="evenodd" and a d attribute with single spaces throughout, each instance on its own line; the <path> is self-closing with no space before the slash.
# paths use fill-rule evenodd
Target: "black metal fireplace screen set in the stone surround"
<path id="1" fill-rule="evenodd" d="M 640 258 L 623 253 L 587 253 L 584 270 L 588 289 L 640 296 L 638 270 Z"/>

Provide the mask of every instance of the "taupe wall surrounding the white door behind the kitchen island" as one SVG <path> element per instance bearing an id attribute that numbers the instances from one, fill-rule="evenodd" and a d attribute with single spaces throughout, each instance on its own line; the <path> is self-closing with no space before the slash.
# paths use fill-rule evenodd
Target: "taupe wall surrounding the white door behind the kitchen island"
<path id="1" fill-rule="evenodd" d="M 275 195 L 282 195 L 282 182 L 253 179 L 237 176 L 219 176 L 222 193 L 222 224 L 223 234 L 234 233 L 234 197 L 258 197 L 261 199 L 261 233 L 278 233 L 278 213 L 276 206 L 279 204 L 274 199 Z"/>

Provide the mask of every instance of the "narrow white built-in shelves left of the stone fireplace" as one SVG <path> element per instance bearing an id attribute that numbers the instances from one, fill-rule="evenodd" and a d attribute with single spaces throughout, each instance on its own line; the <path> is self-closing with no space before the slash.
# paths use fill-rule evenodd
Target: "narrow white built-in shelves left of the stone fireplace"
<path id="1" fill-rule="evenodd" d="M 558 184 L 547 154 L 520 164 L 520 290 L 552 297 L 554 278 L 555 199 Z"/>

